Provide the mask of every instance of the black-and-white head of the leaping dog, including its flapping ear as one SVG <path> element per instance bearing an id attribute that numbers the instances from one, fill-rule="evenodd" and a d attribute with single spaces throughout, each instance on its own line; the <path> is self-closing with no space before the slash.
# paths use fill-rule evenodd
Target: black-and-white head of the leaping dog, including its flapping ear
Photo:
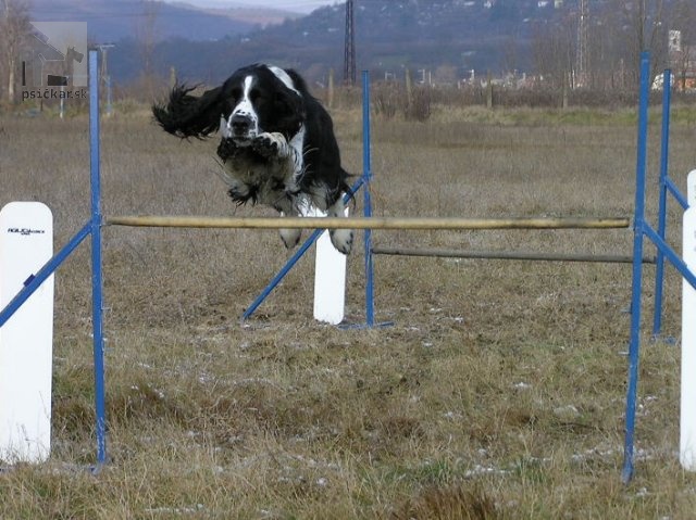
<path id="1" fill-rule="evenodd" d="M 303 81 L 294 71 L 249 65 L 235 72 L 222 86 L 199 98 L 177 86 L 166 105 L 152 112 L 162 127 L 178 137 L 206 137 L 220 130 L 238 145 L 249 144 L 262 132 L 279 132 L 288 140 L 304 121 Z"/>

